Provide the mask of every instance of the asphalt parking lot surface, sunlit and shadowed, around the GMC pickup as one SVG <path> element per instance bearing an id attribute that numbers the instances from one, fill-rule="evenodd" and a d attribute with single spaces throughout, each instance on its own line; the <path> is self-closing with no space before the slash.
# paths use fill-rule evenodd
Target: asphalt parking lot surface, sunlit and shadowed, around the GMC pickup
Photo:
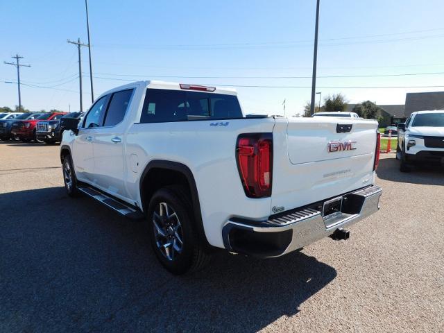
<path id="1" fill-rule="evenodd" d="M 348 241 L 175 277 L 142 223 L 67 197 L 58 149 L 0 142 L 0 332 L 444 332 L 442 170 L 386 154 Z"/>

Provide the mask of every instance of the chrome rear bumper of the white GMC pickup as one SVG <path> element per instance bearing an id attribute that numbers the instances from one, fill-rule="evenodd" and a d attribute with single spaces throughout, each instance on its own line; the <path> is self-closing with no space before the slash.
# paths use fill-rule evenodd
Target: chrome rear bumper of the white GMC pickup
<path id="1" fill-rule="evenodd" d="M 382 189 L 376 185 L 343 194 L 341 212 L 324 218 L 309 205 L 270 216 L 267 221 L 230 219 L 223 227 L 225 248 L 259 257 L 278 257 L 357 223 L 379 210 Z M 322 203 L 316 203 L 319 205 Z"/>

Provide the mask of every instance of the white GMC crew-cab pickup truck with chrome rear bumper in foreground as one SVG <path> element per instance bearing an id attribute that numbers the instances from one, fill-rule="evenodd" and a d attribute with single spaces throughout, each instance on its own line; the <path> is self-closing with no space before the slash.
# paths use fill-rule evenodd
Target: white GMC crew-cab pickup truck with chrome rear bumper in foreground
<path id="1" fill-rule="evenodd" d="M 278 257 L 377 212 L 377 122 L 248 117 L 231 89 L 143 81 L 102 94 L 60 146 L 70 196 L 144 219 L 182 274 L 214 248 Z"/>

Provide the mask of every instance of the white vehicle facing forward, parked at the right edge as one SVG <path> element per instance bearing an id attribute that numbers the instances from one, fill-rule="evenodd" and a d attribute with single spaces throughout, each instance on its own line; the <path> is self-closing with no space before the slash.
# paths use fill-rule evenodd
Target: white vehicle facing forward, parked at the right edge
<path id="1" fill-rule="evenodd" d="M 413 164 L 444 164 L 444 111 L 413 112 L 398 125 L 396 148 L 402 172 Z"/>

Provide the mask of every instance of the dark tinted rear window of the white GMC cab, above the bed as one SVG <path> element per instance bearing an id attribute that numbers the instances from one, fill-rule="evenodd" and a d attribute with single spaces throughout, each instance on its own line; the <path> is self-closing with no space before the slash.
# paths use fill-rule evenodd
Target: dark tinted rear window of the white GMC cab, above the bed
<path id="1" fill-rule="evenodd" d="M 242 118 L 237 96 L 147 89 L 141 123 Z"/>

